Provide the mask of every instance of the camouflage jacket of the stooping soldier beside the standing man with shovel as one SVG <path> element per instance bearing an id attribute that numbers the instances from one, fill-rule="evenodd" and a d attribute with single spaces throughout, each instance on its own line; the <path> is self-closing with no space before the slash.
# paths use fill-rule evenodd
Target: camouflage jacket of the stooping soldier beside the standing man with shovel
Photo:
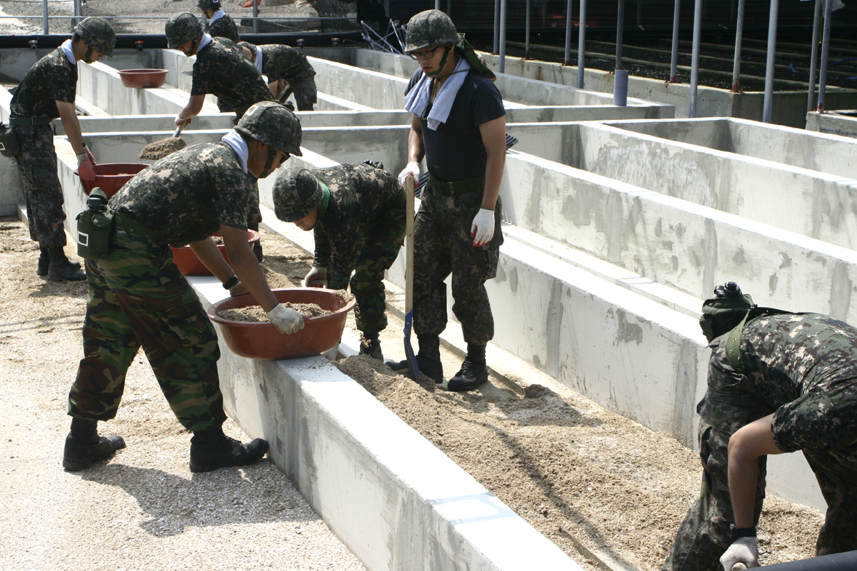
<path id="1" fill-rule="evenodd" d="M 310 172 L 330 188 L 315 223 L 313 265 L 329 267 L 329 287 L 345 289 L 354 269 L 361 230 L 405 205 L 399 179 L 365 164 L 341 164 Z"/>

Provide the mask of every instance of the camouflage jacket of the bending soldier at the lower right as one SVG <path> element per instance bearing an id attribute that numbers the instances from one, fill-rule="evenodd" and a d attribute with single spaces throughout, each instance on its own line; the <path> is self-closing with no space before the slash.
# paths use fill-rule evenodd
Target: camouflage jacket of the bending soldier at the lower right
<path id="1" fill-rule="evenodd" d="M 709 376 L 698 409 L 706 422 L 731 432 L 774 413 L 783 452 L 857 462 L 857 328 L 813 313 L 761 317 L 745 325 L 740 348 L 743 378 Z"/>

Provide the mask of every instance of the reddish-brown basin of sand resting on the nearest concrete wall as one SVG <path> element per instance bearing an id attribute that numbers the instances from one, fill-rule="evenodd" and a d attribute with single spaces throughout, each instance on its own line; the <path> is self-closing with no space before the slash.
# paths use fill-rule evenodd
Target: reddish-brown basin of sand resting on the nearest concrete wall
<path id="1" fill-rule="evenodd" d="M 252 295 L 228 297 L 208 308 L 208 317 L 220 325 L 220 332 L 232 352 L 249 359 L 297 359 L 320 354 L 332 348 L 342 338 L 345 318 L 357 300 L 344 302 L 336 292 L 321 288 L 274 289 L 280 303 L 315 303 L 333 313 L 317 318 L 304 318 L 303 329 L 285 335 L 272 323 L 243 323 L 220 318 L 221 309 L 236 309 L 255 305 Z"/>

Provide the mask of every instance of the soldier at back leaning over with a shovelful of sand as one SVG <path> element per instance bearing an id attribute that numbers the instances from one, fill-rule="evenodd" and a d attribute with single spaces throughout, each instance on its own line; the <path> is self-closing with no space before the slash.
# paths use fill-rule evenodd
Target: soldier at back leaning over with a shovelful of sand
<path id="1" fill-rule="evenodd" d="M 196 56 L 194 80 L 190 99 L 176 116 L 176 125 L 188 125 L 199 115 L 207 93 L 213 93 L 219 102 L 235 110 L 236 119 L 243 116 L 250 105 L 271 99 L 265 81 L 244 52 L 230 39 L 212 38 L 202 31 L 202 22 L 185 12 L 174 15 L 165 24 L 167 46 L 182 51 L 187 57 Z M 258 195 L 258 189 L 255 191 Z M 258 203 L 258 198 L 255 200 Z M 258 230 L 261 211 L 251 211 L 249 228 Z M 262 259 L 261 241 L 254 246 L 256 258 Z"/>

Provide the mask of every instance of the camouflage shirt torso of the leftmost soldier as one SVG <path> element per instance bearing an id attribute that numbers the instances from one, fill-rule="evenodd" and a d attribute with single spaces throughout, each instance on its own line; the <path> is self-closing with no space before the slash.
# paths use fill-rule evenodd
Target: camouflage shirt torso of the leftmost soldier
<path id="1" fill-rule="evenodd" d="M 41 58 L 24 76 L 9 105 L 13 116 L 59 116 L 56 101 L 75 103 L 77 66 L 69 62 L 62 47 Z"/>

